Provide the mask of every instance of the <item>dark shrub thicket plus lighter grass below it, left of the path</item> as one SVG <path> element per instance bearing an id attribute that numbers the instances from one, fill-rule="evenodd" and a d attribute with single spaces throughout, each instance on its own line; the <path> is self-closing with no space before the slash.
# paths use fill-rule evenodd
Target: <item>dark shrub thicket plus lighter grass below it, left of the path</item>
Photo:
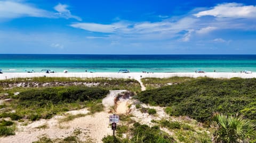
<path id="1" fill-rule="evenodd" d="M 57 113 L 84 107 L 89 107 L 91 113 L 95 113 L 103 110 L 103 106 L 99 102 L 101 103 L 101 99 L 108 92 L 105 89 L 85 86 L 31 89 L 20 92 L 19 96 L 0 112 L 0 117 L 11 117 L 12 120 L 25 118 L 36 121 L 41 118 L 50 119 Z M 15 110 L 15 113 L 8 112 L 12 110 Z"/>

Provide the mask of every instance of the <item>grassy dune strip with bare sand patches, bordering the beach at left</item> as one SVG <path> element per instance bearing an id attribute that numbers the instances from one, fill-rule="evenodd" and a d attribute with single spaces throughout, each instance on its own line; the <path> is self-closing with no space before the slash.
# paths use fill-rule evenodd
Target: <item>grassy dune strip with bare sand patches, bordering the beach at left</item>
<path id="1" fill-rule="evenodd" d="M 53 87 L 53 86 L 75 86 L 86 85 L 99 87 L 107 90 L 129 90 L 140 92 L 140 83 L 134 79 L 115 78 L 57 78 L 57 77 L 36 77 L 36 78 L 15 78 L 0 80 L 0 94 L 13 95 L 14 92 L 21 92 L 29 88 Z"/>

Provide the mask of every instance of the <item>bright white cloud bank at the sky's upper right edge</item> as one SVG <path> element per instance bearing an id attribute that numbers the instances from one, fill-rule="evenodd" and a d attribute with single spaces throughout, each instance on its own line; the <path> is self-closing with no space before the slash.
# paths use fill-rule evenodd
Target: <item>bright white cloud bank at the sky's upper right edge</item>
<path id="1" fill-rule="evenodd" d="M 256 6 L 238 3 L 219 4 L 211 10 L 194 14 L 197 18 L 211 15 L 217 18 L 256 18 Z"/>

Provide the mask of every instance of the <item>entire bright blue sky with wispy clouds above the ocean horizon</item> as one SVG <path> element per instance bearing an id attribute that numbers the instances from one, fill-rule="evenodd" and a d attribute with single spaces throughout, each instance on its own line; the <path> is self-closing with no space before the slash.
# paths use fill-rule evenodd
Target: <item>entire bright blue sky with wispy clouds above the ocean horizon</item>
<path id="1" fill-rule="evenodd" d="M 0 0 L 0 54 L 256 54 L 256 1 Z"/>

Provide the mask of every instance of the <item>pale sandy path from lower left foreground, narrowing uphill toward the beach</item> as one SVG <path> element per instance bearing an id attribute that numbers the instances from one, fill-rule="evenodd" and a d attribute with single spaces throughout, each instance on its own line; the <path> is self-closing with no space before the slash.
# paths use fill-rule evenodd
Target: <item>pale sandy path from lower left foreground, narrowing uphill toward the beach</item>
<path id="1" fill-rule="evenodd" d="M 82 131 L 80 139 L 82 141 L 88 138 L 92 139 L 94 142 L 102 142 L 101 139 L 104 136 L 111 135 L 113 132 L 109 127 L 109 115 L 108 108 L 114 106 L 114 99 L 116 96 L 126 90 L 110 90 L 110 93 L 106 98 L 102 99 L 102 104 L 106 107 L 103 112 L 95 113 L 93 115 L 86 115 L 84 117 L 79 117 L 69 122 L 59 123 L 59 119 L 64 116 L 54 116 L 50 120 L 41 119 L 35 121 L 26 126 L 20 125 L 18 123 L 18 131 L 15 132 L 14 136 L 1 137 L 0 142 L 32 142 L 38 140 L 39 136 L 45 134 L 51 139 L 65 138 L 71 136 L 74 130 L 79 129 Z M 123 103 L 121 103 L 123 106 Z M 126 102 L 125 104 L 126 105 Z M 123 111 L 121 111 L 123 112 Z M 69 111 L 69 114 L 86 114 L 88 111 L 86 109 Z M 125 113 L 125 112 L 124 112 Z M 37 127 L 46 124 L 48 128 L 37 129 Z"/>

